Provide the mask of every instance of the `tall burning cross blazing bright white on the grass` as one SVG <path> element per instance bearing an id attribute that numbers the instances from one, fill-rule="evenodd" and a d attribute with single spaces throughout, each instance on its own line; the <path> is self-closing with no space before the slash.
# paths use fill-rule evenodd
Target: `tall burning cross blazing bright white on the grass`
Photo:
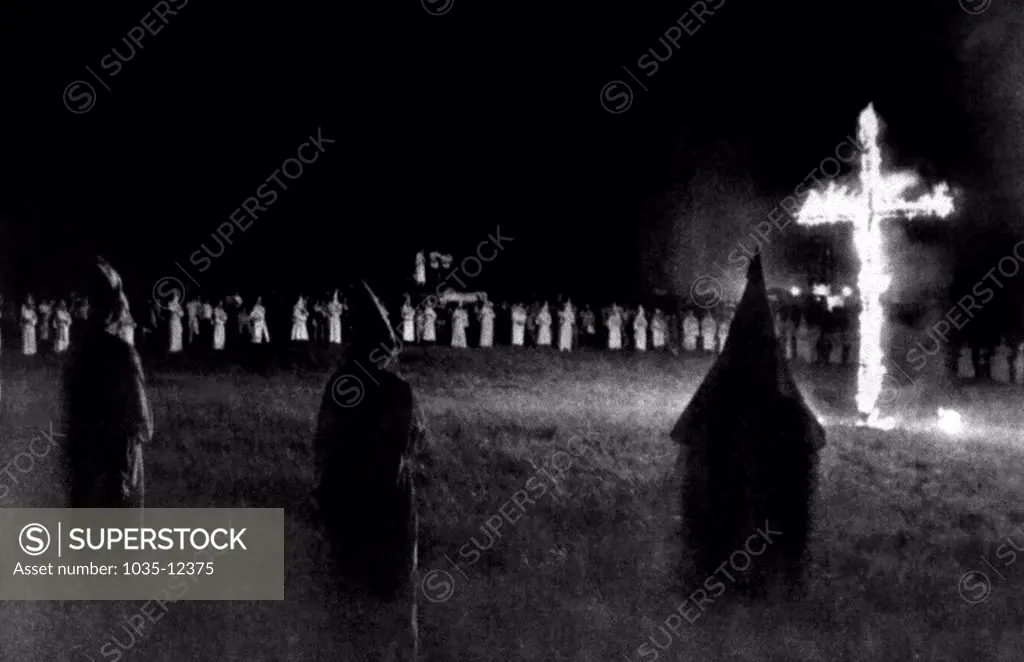
<path id="1" fill-rule="evenodd" d="M 829 182 L 825 191 L 811 192 L 797 215 L 797 222 L 803 225 L 844 221 L 853 223 L 853 243 L 860 261 L 857 289 L 861 300 L 858 319 L 860 351 L 857 411 L 860 412 L 862 422 L 868 425 L 891 427 L 891 420 L 879 417 L 877 406 L 882 392 L 882 380 L 886 375 L 883 365 L 885 353 L 882 348 L 882 295 L 892 280 L 886 268 L 880 221 L 919 216 L 945 218 L 953 212 L 953 198 L 949 187 L 942 182 L 931 194 L 911 201 L 904 194 L 920 183 L 916 173 L 883 174 L 879 116 L 874 113 L 872 104 L 868 104 L 860 113 L 857 137 L 862 151 L 860 176 L 854 182 L 854 188 L 838 187 L 836 182 Z"/>

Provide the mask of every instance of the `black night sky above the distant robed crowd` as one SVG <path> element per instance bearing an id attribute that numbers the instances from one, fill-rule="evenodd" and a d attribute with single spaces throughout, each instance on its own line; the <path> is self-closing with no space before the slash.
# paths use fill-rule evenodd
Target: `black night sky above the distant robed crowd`
<path id="1" fill-rule="evenodd" d="M 404 276 L 421 242 L 464 255 L 501 224 L 515 241 L 483 286 L 679 289 L 691 249 L 673 230 L 711 204 L 709 172 L 737 192 L 714 203 L 735 226 L 701 231 L 724 261 L 730 232 L 791 193 L 872 100 L 901 166 L 966 192 L 928 240 L 951 251 L 949 278 L 983 275 L 985 251 L 997 258 L 1024 224 L 1011 176 L 1024 31 L 1005 0 L 980 15 L 955 0 L 725 0 L 620 115 L 602 86 L 623 66 L 643 76 L 637 59 L 665 52 L 691 2 L 458 0 L 433 16 L 418 1 L 188 0 L 111 78 L 100 59 L 128 52 L 122 37 L 154 4 L 0 9 L 6 289 L 94 248 L 135 278 L 172 273 L 318 126 L 337 142 L 236 235 L 209 282 L 254 285 L 260 265 L 283 286 Z M 81 115 L 61 99 L 76 79 L 97 88 Z M 698 192 L 682 213 L 658 203 L 674 187 Z"/>

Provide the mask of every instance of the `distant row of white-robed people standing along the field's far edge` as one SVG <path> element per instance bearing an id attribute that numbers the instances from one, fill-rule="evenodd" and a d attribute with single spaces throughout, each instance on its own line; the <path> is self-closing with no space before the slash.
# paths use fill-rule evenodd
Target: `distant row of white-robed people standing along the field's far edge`
<path id="1" fill-rule="evenodd" d="M 221 353 L 238 345 L 341 345 L 350 328 L 348 305 L 340 290 L 325 292 L 310 302 L 299 295 L 290 303 L 272 297 L 265 304 L 256 295 L 247 304 L 239 292 L 211 300 L 177 293 L 169 299 L 148 300 L 143 319 L 136 320 L 127 307 L 117 324 L 117 333 L 147 354 L 179 354 L 185 348 Z M 429 298 L 429 297 L 428 297 Z M 69 303 L 70 301 L 70 303 Z M 290 307 L 289 307 L 290 306 Z M 824 318 L 784 307 L 775 315 L 776 334 L 785 357 L 803 364 L 850 365 L 856 362 L 856 333 L 849 312 Z M 86 297 L 72 293 L 67 299 L 36 302 L 28 294 L 14 309 L 0 297 L 0 349 L 15 334 L 20 354 L 40 350 L 66 353 L 75 329 L 90 315 Z M 535 300 L 503 301 L 454 299 L 446 303 L 413 304 L 404 294 L 400 305 L 388 312 L 395 337 L 408 345 L 452 347 L 535 346 L 572 351 L 581 347 L 609 351 L 672 350 L 721 353 L 729 334 L 732 307 L 690 307 L 663 311 L 643 305 L 578 307 L 562 297 L 552 304 Z M 988 378 L 997 383 L 1024 384 L 1024 343 L 1017 351 L 1006 340 L 993 349 L 962 346 L 956 362 L 962 379 Z"/>

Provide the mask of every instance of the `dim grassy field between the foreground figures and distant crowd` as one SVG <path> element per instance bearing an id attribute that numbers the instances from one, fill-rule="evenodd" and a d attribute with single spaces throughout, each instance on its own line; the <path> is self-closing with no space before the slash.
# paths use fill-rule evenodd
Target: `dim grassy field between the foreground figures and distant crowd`
<path id="1" fill-rule="evenodd" d="M 330 366 L 302 363 L 265 374 L 147 366 L 158 426 L 147 505 L 284 507 L 286 601 L 176 603 L 124 659 L 356 659 L 345 649 L 350 610 L 303 514 Z M 10 353 L 2 364 L 6 464 L 58 424 L 59 367 Z M 995 556 L 1008 537 L 1024 547 L 1024 390 L 945 394 L 969 428 L 949 437 L 931 429 L 934 403 L 908 388 L 891 398 L 904 426 L 883 432 L 848 424 L 854 375 L 829 368 L 797 375 L 828 430 L 806 597 L 752 604 L 726 583 L 694 623 L 658 631 L 689 592 L 674 574 L 679 483 L 668 430 L 708 367 L 671 355 L 507 348 L 403 358 L 434 454 L 421 519 L 426 659 L 652 660 L 638 653 L 651 650 L 650 636 L 669 660 L 1024 659 L 1024 561 Z M 3 505 L 65 505 L 60 472 L 55 455 L 39 460 Z M 460 556 L 531 479 L 546 493 L 489 550 Z M 991 580 L 988 592 L 969 582 L 964 594 L 984 597 L 976 603 L 958 588 L 970 571 Z M 0 659 L 104 659 L 99 647 L 126 639 L 122 623 L 139 606 L 0 603 Z"/>

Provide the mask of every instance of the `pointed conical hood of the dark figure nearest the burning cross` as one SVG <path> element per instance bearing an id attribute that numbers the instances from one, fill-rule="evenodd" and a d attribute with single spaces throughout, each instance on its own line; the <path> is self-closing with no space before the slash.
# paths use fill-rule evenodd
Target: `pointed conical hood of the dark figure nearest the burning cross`
<path id="1" fill-rule="evenodd" d="M 710 421 L 742 416 L 737 408 L 763 406 L 779 398 L 807 411 L 815 428 L 811 436 L 823 440 L 823 430 L 807 408 L 775 336 L 761 255 L 757 255 L 746 272 L 746 289 L 729 325 L 725 347 L 686 406 L 672 438 L 688 444 L 695 430 Z"/>

